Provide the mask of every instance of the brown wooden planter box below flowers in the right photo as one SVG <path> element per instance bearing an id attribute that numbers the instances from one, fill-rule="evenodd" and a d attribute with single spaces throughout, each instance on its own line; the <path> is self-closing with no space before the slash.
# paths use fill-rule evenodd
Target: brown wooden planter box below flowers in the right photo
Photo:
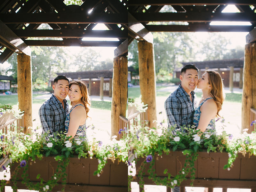
<path id="1" fill-rule="evenodd" d="M 186 156 L 181 151 L 172 151 L 169 155 L 154 157 L 156 163 L 153 167 L 155 173 L 159 177 L 167 177 L 164 170 L 173 176 L 178 174 L 184 166 Z M 136 170 L 140 167 L 144 159 L 140 159 L 136 164 Z M 194 180 L 194 187 L 208 187 L 208 188 L 253 188 L 256 189 L 256 156 L 246 154 L 238 154 L 234 166 L 228 171 L 223 169 L 224 165 L 228 163 L 227 152 L 198 152 L 197 160 L 195 161 L 196 179 Z M 152 180 L 148 179 L 148 167 L 150 163 L 146 162 L 145 176 L 143 180 L 145 184 L 154 184 Z M 138 172 L 137 172 L 138 173 Z M 180 186 L 190 186 L 190 175 L 187 175 L 187 180 L 183 181 Z M 138 175 L 135 176 L 134 181 L 139 181 Z"/>

